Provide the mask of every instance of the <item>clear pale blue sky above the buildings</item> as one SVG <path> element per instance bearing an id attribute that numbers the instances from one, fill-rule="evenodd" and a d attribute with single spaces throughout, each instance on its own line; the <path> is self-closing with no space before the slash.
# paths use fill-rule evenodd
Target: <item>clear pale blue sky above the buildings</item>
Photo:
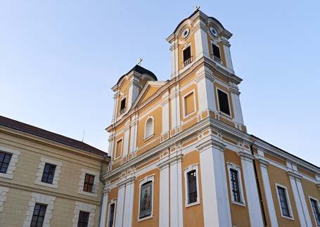
<path id="1" fill-rule="evenodd" d="M 233 33 L 248 132 L 319 166 L 319 0 L 0 1 L 0 115 L 108 150 L 111 86 L 140 57 L 169 79 L 195 6 Z"/>

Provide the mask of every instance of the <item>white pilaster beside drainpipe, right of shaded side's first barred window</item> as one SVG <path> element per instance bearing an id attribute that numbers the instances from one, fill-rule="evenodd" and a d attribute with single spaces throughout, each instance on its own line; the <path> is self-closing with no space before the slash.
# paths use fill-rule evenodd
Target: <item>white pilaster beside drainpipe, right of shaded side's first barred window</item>
<path id="1" fill-rule="evenodd" d="M 250 153 L 240 152 L 243 169 L 243 179 L 245 181 L 245 194 L 247 195 L 249 216 L 251 226 L 263 227 L 262 213 L 255 180 L 255 169 L 253 168 L 253 156 Z"/>

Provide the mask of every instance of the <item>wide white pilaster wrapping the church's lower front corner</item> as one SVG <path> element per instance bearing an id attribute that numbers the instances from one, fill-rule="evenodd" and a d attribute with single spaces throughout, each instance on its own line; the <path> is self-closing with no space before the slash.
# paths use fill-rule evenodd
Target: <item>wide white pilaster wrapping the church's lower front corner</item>
<path id="1" fill-rule="evenodd" d="M 200 152 L 205 227 L 231 227 L 224 144 L 209 137 L 203 138 L 197 148 Z"/>

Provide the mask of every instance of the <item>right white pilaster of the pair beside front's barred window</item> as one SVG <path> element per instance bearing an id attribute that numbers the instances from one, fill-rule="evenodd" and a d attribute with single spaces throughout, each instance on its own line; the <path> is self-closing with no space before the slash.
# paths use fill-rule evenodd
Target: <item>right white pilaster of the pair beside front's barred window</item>
<path id="1" fill-rule="evenodd" d="M 170 226 L 183 227 L 181 155 L 170 162 Z"/>

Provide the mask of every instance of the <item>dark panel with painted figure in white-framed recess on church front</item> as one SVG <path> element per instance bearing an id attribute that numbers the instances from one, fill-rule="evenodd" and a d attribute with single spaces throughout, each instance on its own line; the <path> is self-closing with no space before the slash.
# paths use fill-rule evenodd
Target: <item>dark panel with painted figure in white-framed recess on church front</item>
<path id="1" fill-rule="evenodd" d="M 143 183 L 140 192 L 139 219 L 151 216 L 152 212 L 152 181 Z"/>

